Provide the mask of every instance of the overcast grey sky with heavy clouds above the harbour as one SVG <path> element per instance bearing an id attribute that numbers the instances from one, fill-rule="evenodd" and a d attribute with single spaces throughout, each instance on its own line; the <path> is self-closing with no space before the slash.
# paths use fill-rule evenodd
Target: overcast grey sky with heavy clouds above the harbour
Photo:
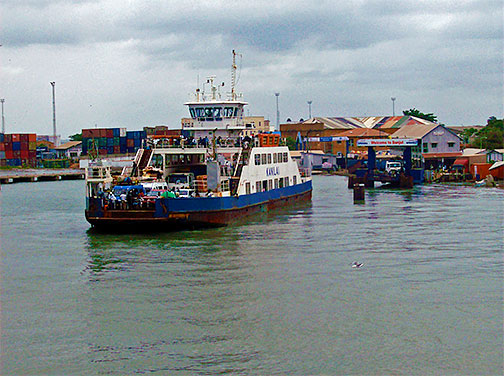
<path id="1" fill-rule="evenodd" d="M 502 0 L 3 0 L 0 97 L 7 133 L 180 127 L 209 75 L 247 114 L 276 123 L 392 115 L 447 125 L 503 113 Z"/>

